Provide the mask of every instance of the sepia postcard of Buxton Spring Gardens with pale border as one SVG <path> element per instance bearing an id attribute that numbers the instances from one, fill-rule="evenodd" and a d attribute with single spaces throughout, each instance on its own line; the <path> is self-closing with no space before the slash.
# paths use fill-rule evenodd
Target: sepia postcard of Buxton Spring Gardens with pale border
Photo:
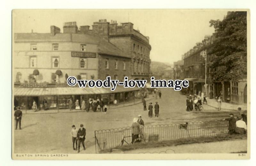
<path id="1" fill-rule="evenodd" d="M 12 159 L 250 159 L 249 9 L 12 10 Z"/>

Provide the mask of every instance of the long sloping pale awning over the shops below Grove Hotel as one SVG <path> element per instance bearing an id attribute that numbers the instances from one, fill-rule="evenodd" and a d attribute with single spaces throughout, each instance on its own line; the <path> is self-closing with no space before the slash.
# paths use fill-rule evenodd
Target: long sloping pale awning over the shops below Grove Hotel
<path id="1" fill-rule="evenodd" d="M 50 96 L 50 95 L 89 95 L 108 94 L 140 90 L 138 87 L 124 88 L 117 86 L 114 91 L 110 88 L 79 88 L 79 87 L 52 87 L 52 88 L 20 88 L 14 87 L 14 96 Z"/>

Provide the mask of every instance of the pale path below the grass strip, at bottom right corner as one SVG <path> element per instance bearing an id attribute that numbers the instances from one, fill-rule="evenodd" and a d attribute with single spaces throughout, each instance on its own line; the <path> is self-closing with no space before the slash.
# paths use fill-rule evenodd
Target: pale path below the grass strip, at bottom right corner
<path id="1" fill-rule="evenodd" d="M 124 152 L 116 151 L 116 153 L 234 153 L 240 151 L 247 151 L 247 140 L 230 140 L 169 147 L 143 148 Z"/>

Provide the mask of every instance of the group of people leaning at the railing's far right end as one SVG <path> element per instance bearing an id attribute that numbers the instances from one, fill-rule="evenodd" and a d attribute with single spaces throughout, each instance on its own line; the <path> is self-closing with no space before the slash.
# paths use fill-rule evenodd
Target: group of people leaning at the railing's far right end
<path id="1" fill-rule="evenodd" d="M 241 108 L 238 107 L 239 115 L 234 117 L 233 113 L 229 114 L 229 118 L 223 119 L 228 120 L 228 134 L 246 134 L 247 131 L 247 115 L 246 111 L 242 112 Z"/>

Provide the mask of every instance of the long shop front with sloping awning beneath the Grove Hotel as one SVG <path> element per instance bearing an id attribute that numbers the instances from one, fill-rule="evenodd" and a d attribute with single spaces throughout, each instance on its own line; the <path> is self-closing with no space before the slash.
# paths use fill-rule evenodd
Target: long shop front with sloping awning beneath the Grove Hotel
<path id="1" fill-rule="evenodd" d="M 59 110 L 68 109 L 69 101 L 88 101 L 103 98 L 108 104 L 125 103 L 140 98 L 141 89 L 117 86 L 115 91 L 110 88 L 79 88 L 79 87 L 14 87 L 14 109 L 18 106 L 23 110 Z M 35 107 L 36 106 L 36 107 Z"/>

